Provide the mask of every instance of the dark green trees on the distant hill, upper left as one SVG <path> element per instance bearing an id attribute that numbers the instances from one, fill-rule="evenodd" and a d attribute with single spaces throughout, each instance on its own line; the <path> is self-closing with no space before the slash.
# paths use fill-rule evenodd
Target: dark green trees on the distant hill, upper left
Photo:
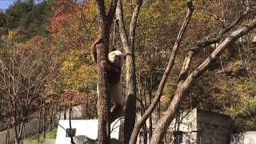
<path id="1" fill-rule="evenodd" d="M 33 0 L 14 2 L 6 10 L 0 12 L 0 35 L 8 30 L 17 30 L 17 41 L 25 42 L 35 35 L 48 36 L 47 18 L 52 13 L 52 0 L 35 3 Z"/>

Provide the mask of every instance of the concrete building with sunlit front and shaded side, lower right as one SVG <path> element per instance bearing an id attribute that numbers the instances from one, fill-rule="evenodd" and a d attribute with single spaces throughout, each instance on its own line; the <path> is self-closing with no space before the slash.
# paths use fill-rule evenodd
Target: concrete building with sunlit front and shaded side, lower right
<path id="1" fill-rule="evenodd" d="M 207 110 L 186 110 L 177 114 L 170 124 L 164 143 L 174 142 L 174 133 L 182 134 L 186 144 L 228 144 L 230 142 L 230 116 Z"/>

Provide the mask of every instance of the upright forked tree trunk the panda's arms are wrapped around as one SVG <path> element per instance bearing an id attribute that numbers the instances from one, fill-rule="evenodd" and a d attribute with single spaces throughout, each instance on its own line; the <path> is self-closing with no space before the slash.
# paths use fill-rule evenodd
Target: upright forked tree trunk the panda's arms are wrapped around
<path id="1" fill-rule="evenodd" d="M 109 53 L 110 28 L 114 19 L 118 0 L 111 1 L 108 14 L 105 12 L 105 3 L 96 0 L 98 15 L 98 33 L 103 42 L 96 45 L 97 49 L 97 73 L 98 73 L 98 143 L 110 143 L 110 91 L 106 78 L 106 70 L 101 66 L 106 62 Z"/>

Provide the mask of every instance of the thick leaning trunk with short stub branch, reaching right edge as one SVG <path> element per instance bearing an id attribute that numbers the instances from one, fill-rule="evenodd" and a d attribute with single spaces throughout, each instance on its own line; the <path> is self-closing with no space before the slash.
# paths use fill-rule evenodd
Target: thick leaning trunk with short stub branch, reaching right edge
<path id="1" fill-rule="evenodd" d="M 256 18 L 254 18 L 254 20 L 250 22 L 248 26 L 243 26 L 238 30 L 234 30 L 229 35 L 229 37 L 224 39 L 218 45 L 218 47 L 210 54 L 208 58 L 206 58 L 204 62 L 202 62 L 195 70 L 193 70 L 188 76 L 186 76 L 186 73 L 189 69 L 191 57 L 194 54 L 194 51 L 190 51 L 190 53 L 185 58 L 185 61 L 183 63 L 182 71 L 180 74 L 176 92 L 174 94 L 174 98 L 170 102 L 170 106 L 168 107 L 168 109 L 166 110 L 162 118 L 158 121 L 158 124 L 154 129 L 150 144 L 161 143 L 162 138 L 166 134 L 166 130 L 168 126 L 170 126 L 170 122 L 173 121 L 174 116 L 178 111 L 178 106 L 179 106 L 179 103 L 181 102 L 183 95 L 186 93 L 186 90 L 188 90 L 193 80 L 197 78 L 200 74 L 204 73 L 207 67 L 210 66 L 211 63 L 215 62 L 216 59 L 219 57 L 219 55 L 222 54 L 223 50 L 226 50 L 227 46 L 230 46 L 230 44 L 235 42 L 235 40 L 249 33 L 250 30 L 254 30 L 255 27 L 256 27 Z"/>

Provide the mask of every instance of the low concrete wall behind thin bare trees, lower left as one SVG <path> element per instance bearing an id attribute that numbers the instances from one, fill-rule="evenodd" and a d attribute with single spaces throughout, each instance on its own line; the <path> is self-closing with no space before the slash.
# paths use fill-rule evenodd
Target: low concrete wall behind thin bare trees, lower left
<path id="1" fill-rule="evenodd" d="M 39 128 L 39 132 L 42 132 L 43 128 L 42 128 L 42 122 L 40 123 L 40 128 Z M 50 127 L 50 121 L 46 121 L 46 129 Z M 7 134 L 7 130 L 6 131 L 2 131 L 0 133 L 0 144 L 6 144 L 6 134 Z M 38 121 L 33 121 L 33 122 L 28 122 L 25 124 L 25 129 L 24 129 L 24 133 L 23 135 L 25 136 L 31 136 L 34 134 L 38 134 Z M 10 143 L 14 142 L 14 135 L 15 135 L 15 130 L 10 129 Z"/>

